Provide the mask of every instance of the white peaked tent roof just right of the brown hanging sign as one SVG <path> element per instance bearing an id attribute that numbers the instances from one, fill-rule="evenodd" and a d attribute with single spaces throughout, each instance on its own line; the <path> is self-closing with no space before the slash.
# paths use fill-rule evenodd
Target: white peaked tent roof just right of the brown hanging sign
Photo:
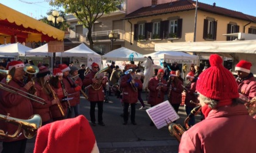
<path id="1" fill-rule="evenodd" d="M 66 50 L 65 52 L 57 52 L 56 56 L 62 56 L 62 57 L 87 57 L 87 55 L 96 55 L 101 56 L 98 53 L 91 50 L 89 47 L 87 47 L 85 44 L 80 44 L 77 47 L 74 47 L 73 49 Z"/>

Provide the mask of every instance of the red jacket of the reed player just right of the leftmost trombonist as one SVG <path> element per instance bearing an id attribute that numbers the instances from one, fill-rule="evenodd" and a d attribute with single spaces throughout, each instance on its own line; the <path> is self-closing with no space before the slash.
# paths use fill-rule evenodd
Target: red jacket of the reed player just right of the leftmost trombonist
<path id="1" fill-rule="evenodd" d="M 40 115 L 42 122 L 51 120 L 50 106 L 52 106 L 53 98 L 44 92 L 43 88 L 35 82 L 35 89 L 37 90 L 37 96 L 45 100 L 45 104 L 40 104 L 35 101 L 32 102 L 34 114 Z"/>

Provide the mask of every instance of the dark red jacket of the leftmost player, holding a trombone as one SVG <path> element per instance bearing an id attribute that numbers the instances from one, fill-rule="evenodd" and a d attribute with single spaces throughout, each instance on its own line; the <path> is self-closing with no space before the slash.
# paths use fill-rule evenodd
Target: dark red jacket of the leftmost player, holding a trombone
<path id="1" fill-rule="evenodd" d="M 2 83 L 6 83 L 5 78 L 1 81 Z M 22 86 L 23 83 L 16 82 L 15 80 L 10 81 L 9 86 L 16 87 L 17 89 L 23 90 L 27 92 L 27 90 Z M 17 91 L 20 94 L 23 92 Z M 26 94 L 25 94 L 26 95 Z M 26 95 L 28 96 L 28 95 Z M 11 92 L 7 92 L 5 90 L 0 89 L 0 114 L 7 115 L 10 114 L 10 117 L 19 118 L 23 120 L 29 119 L 30 116 L 33 115 L 33 108 L 29 98 L 25 98 L 21 95 L 12 94 Z M 9 135 L 12 135 L 16 132 L 17 127 L 15 124 L 7 123 L 5 121 L 0 120 L 0 129 L 4 132 L 8 132 Z M 23 132 L 23 131 L 21 131 Z M 20 137 L 13 139 L 1 139 L 1 141 L 16 141 L 24 139 L 24 135 L 20 135 Z"/>

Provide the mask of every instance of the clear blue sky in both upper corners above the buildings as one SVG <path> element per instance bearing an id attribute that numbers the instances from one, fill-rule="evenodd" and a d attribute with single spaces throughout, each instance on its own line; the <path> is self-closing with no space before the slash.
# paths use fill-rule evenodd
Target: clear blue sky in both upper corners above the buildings
<path id="1" fill-rule="evenodd" d="M 41 15 L 47 16 L 46 12 L 48 12 L 48 10 L 56 9 L 51 7 L 48 2 L 45 1 L 46 0 L 0 0 L 0 3 L 32 18 L 40 19 Z M 224 7 L 226 9 L 243 12 L 247 15 L 256 16 L 255 0 L 199 0 L 198 2 L 210 5 L 212 5 L 213 2 L 216 2 L 216 6 L 218 7 Z"/>

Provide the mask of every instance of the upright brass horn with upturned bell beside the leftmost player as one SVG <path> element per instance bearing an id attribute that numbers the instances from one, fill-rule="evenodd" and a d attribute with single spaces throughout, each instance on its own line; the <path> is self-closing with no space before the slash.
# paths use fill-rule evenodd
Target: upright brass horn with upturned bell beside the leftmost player
<path id="1" fill-rule="evenodd" d="M 38 67 L 34 65 L 26 65 L 23 69 L 27 73 L 26 83 L 28 83 L 29 81 L 32 81 L 33 85 L 35 86 L 34 77 L 39 72 Z M 29 89 L 30 94 L 35 94 L 36 89 L 34 86 Z"/>

